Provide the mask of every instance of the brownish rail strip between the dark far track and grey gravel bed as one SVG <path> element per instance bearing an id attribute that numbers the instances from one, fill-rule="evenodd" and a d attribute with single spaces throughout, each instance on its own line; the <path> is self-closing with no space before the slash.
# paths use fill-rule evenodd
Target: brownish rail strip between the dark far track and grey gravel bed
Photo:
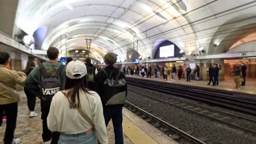
<path id="1" fill-rule="evenodd" d="M 251 133 L 256 135 L 256 119 L 248 118 L 245 116 L 235 115 L 233 113 L 225 112 L 218 109 L 213 109 L 212 107 L 200 105 L 194 103 L 190 100 L 181 99 L 178 97 L 171 97 L 171 95 L 154 93 L 150 90 L 143 90 L 142 88 L 137 88 L 130 86 L 128 91 L 142 95 L 149 99 L 157 100 L 160 103 L 178 107 L 179 109 L 196 113 L 202 117 L 206 117 L 212 121 L 228 125 L 231 128 L 245 131 L 246 133 Z M 147 94 L 145 94 L 147 93 Z"/>

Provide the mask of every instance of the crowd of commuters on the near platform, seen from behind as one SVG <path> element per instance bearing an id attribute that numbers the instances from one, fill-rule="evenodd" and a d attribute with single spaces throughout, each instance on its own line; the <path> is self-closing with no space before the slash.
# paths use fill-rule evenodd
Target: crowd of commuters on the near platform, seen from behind
<path id="1" fill-rule="evenodd" d="M 20 142 L 14 139 L 20 97 L 15 91 L 16 84 L 24 86 L 30 117 L 38 115 L 34 107 L 36 97 L 40 99 L 44 143 L 108 143 L 106 126 L 110 119 L 115 143 L 124 143 L 123 103 L 107 104 L 106 96 L 112 93 L 106 88 L 109 77 L 125 79 L 125 74 L 113 66 L 117 55 L 104 56 L 104 70 L 98 70 L 89 58 L 85 63 L 67 58 L 67 65 L 63 65 L 57 62 L 59 50 L 55 47 L 47 50 L 47 56 L 48 62 L 37 64 L 31 60 L 25 70 L 14 71 L 7 67 L 9 54 L 0 52 L 0 116 L 3 112 L 7 116 L 4 143 Z M 126 97 L 126 84 L 123 90 Z"/>

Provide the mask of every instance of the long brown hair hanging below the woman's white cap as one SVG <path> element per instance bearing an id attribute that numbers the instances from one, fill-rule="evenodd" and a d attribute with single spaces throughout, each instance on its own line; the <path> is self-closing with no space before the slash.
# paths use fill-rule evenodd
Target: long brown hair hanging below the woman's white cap
<path id="1" fill-rule="evenodd" d="M 88 88 L 87 75 L 85 75 L 81 79 L 69 79 L 66 76 L 66 83 L 65 83 L 66 91 L 64 91 L 63 94 L 65 94 L 66 97 L 68 98 L 70 109 L 76 109 L 81 106 L 79 91 L 81 90 L 85 93 L 89 93 L 87 88 Z M 77 97 L 78 101 L 75 100 L 75 97 Z"/>

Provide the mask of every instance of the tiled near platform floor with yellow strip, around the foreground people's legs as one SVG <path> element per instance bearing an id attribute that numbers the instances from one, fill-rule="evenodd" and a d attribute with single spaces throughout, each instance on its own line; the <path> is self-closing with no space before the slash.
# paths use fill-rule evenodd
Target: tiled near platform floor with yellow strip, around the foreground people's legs
<path id="1" fill-rule="evenodd" d="M 20 138 L 21 143 L 43 143 L 42 140 L 42 121 L 40 119 L 40 101 L 37 99 L 35 111 L 39 114 L 37 117 L 28 117 L 28 108 L 26 104 L 26 96 L 22 94 L 22 101 L 19 102 L 17 126 L 15 130 L 15 138 Z M 2 124 L 2 131 L 0 131 L 0 144 L 3 144 L 3 136 L 5 131 L 5 122 Z M 123 110 L 123 131 L 124 143 L 139 143 L 139 144 L 173 144 L 170 137 L 161 133 L 147 122 L 138 118 L 135 114 L 124 108 Z M 114 129 L 110 122 L 107 127 L 107 134 L 109 143 L 114 143 Z"/>

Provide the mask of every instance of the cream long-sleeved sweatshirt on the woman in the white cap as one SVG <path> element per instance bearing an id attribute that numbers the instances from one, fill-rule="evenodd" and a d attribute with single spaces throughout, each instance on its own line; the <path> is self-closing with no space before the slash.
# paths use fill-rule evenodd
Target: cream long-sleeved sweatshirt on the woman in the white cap
<path id="1" fill-rule="evenodd" d="M 94 122 L 98 140 L 107 144 L 107 129 L 100 96 L 93 91 L 80 91 L 79 97 L 83 112 Z M 77 109 L 69 108 L 68 99 L 62 92 L 57 92 L 51 101 L 47 123 L 49 130 L 65 134 L 80 134 L 91 129 L 91 125 Z"/>

